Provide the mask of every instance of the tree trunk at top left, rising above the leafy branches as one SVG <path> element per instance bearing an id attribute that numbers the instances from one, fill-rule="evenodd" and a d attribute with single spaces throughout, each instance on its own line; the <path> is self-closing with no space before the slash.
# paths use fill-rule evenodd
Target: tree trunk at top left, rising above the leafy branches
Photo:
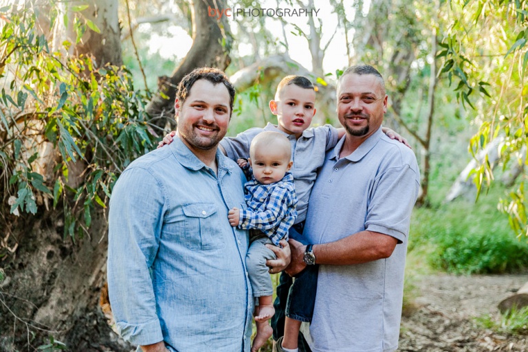
<path id="1" fill-rule="evenodd" d="M 72 5 L 82 5 L 85 1 L 74 1 Z M 73 48 L 73 54 L 91 55 L 96 58 L 98 67 L 107 63 L 121 66 L 123 64 L 121 56 L 121 33 L 118 17 L 118 0 L 92 0 L 89 1 L 89 8 L 81 12 L 84 19 L 94 23 L 100 33 L 87 29 L 80 42 Z M 74 13 L 69 11 L 69 28 L 67 31 L 69 40 L 75 43 L 76 33 L 73 28 L 72 19 Z M 81 23 L 83 18 L 80 19 Z"/>

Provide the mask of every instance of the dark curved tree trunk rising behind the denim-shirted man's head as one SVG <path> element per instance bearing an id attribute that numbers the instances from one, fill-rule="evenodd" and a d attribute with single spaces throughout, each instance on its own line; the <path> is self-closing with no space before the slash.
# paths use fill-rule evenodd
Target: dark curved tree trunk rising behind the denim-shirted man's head
<path id="1" fill-rule="evenodd" d="M 227 18 L 210 17 L 209 8 L 223 10 L 227 6 L 223 0 L 192 1 L 192 47 L 172 76 L 160 78 L 159 93 L 146 108 L 148 114 L 155 118 L 157 126 L 163 127 L 174 117 L 176 88 L 181 78 L 196 67 L 224 70 L 230 63 L 228 54 L 232 37 Z"/>

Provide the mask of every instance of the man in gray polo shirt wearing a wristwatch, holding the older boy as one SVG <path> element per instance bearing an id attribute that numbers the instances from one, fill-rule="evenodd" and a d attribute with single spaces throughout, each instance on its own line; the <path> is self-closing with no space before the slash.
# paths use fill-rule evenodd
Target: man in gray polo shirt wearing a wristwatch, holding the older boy
<path id="1" fill-rule="evenodd" d="M 290 241 L 294 275 L 320 264 L 310 326 L 314 352 L 395 351 L 410 213 L 419 190 L 414 153 L 382 133 L 384 81 L 371 66 L 347 69 L 338 117 L 347 133 L 327 153 L 311 192 L 305 234 Z"/>

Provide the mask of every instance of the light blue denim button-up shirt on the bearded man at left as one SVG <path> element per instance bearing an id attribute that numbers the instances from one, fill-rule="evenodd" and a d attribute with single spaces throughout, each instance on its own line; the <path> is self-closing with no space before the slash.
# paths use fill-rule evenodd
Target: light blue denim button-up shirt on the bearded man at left
<path id="1" fill-rule="evenodd" d="M 253 300 L 245 177 L 217 151 L 218 173 L 179 139 L 135 160 L 113 188 L 108 287 L 118 331 L 170 351 L 250 351 Z M 139 351 L 139 348 L 138 348 Z"/>

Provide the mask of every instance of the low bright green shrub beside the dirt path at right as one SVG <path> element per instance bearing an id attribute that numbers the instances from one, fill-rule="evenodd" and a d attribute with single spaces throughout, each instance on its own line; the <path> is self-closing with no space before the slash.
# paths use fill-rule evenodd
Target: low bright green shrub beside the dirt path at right
<path id="1" fill-rule="evenodd" d="M 412 215 L 410 262 L 456 274 L 518 272 L 528 267 L 528 244 L 516 238 L 507 215 L 496 209 L 502 190 L 478 202 L 454 201 L 418 208 Z"/>

